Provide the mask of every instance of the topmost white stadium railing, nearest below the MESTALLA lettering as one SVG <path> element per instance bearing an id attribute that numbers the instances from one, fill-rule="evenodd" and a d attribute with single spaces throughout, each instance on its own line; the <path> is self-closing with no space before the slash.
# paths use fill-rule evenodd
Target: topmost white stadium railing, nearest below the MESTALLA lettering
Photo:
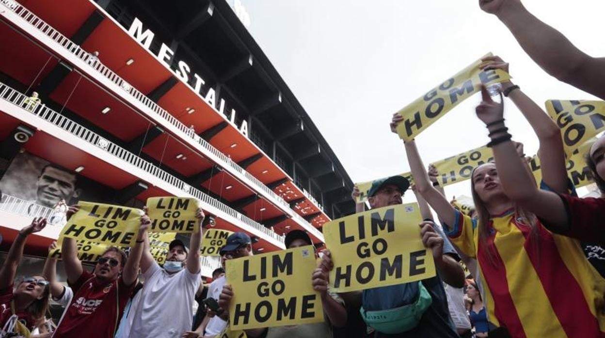
<path id="1" fill-rule="evenodd" d="M 118 76 L 116 73 L 114 73 L 114 71 L 105 67 L 105 65 L 103 65 L 103 63 L 101 63 L 96 57 L 91 57 L 90 53 L 83 50 L 79 45 L 76 45 L 73 42 L 71 42 L 70 39 L 65 37 L 63 34 L 59 33 L 59 31 L 52 28 L 50 25 L 48 25 L 46 22 L 44 22 L 41 18 L 34 15 L 34 13 L 31 13 L 31 11 L 27 10 L 27 8 L 25 8 L 23 5 L 19 4 L 18 2 L 13 1 L 13 0 L 2 0 L 2 3 L 7 8 L 9 8 L 11 11 L 15 12 L 16 15 L 20 16 L 22 19 L 27 21 L 29 24 L 33 25 L 33 27 L 35 27 L 36 29 L 38 29 L 39 31 L 44 33 L 46 36 L 53 39 L 53 41 L 57 42 L 57 44 L 64 47 L 67 51 L 74 54 L 74 56 L 78 57 L 79 59 L 83 60 L 84 62 L 87 62 L 91 68 L 93 68 L 94 70 L 96 70 L 97 72 L 102 74 L 104 77 L 106 77 L 106 79 L 108 79 L 111 82 L 115 83 L 116 85 L 120 86 L 120 88 L 122 88 L 126 93 L 129 93 L 132 97 L 134 97 L 134 99 L 138 100 L 140 103 L 143 103 L 143 105 L 145 105 L 147 108 L 151 109 L 151 111 L 155 112 L 155 114 L 158 114 L 159 117 L 164 119 L 166 122 L 175 126 L 179 131 L 181 131 L 184 134 L 184 135 L 181 135 L 181 137 L 186 136 L 186 137 L 183 137 L 183 139 L 188 140 L 191 143 L 198 143 L 206 151 L 211 152 L 213 155 L 215 155 L 221 161 L 223 161 L 223 163 L 219 163 L 219 164 L 221 164 L 221 166 L 231 167 L 234 171 L 237 171 L 240 174 L 242 174 L 255 187 L 257 187 L 260 190 L 263 190 L 265 193 L 267 193 L 267 195 L 272 197 L 277 203 L 281 204 L 281 206 L 284 208 L 284 211 L 286 211 L 287 213 L 290 213 L 292 218 L 295 218 L 299 223 L 301 223 L 302 226 L 304 226 L 307 230 L 312 232 L 313 235 L 315 235 L 317 238 L 323 239 L 321 232 L 319 232 L 319 230 L 315 229 L 315 227 L 313 227 L 312 224 L 307 222 L 306 219 L 302 218 L 302 216 L 298 215 L 298 213 L 296 213 L 295 210 L 292 210 L 290 208 L 290 204 L 287 203 L 283 198 L 281 198 L 279 195 L 277 195 L 275 192 L 273 192 L 273 190 L 269 189 L 269 187 L 267 187 L 263 182 L 258 180 L 258 178 L 254 177 L 252 174 L 247 172 L 243 167 L 239 166 L 237 163 L 232 161 L 231 158 L 227 157 L 222 152 L 218 151 L 218 149 L 214 148 L 214 146 L 212 146 L 210 143 L 208 143 L 208 141 L 204 140 L 203 138 L 199 137 L 198 135 L 191 135 L 191 132 L 189 131 L 188 126 L 181 123 L 174 116 L 172 116 L 168 111 L 166 111 L 165 109 L 163 109 L 162 107 L 157 105 L 157 103 L 153 102 L 151 99 L 146 97 L 145 94 L 141 93 L 136 88 L 131 86 L 128 82 L 126 82 L 120 76 Z M 304 191 L 304 190 L 301 189 L 301 191 Z M 311 201 L 315 201 L 315 198 L 311 199 L 310 195 L 307 195 L 307 193 L 305 193 L 304 195 L 306 195 L 306 197 L 309 198 Z M 315 204 L 318 204 L 318 203 L 315 203 Z M 322 209 L 323 209 L 323 207 L 321 207 L 321 210 Z M 289 210 L 291 210 L 291 212 L 289 212 Z"/>

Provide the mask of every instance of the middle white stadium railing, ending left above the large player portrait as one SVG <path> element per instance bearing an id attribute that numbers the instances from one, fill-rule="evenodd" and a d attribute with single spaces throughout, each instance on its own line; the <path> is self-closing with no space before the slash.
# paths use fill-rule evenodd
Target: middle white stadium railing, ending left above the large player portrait
<path id="1" fill-rule="evenodd" d="M 195 189 L 194 187 L 189 186 L 184 181 L 174 177 L 171 174 L 168 174 L 168 172 L 163 171 L 162 169 L 155 166 L 154 164 L 152 164 L 146 160 L 143 160 L 142 158 L 138 157 L 137 155 L 134 155 L 131 152 L 127 151 L 126 149 L 116 145 L 115 143 L 113 143 L 109 140 L 106 140 L 105 138 L 101 137 L 100 135 L 96 134 L 95 132 L 91 131 L 90 129 L 87 129 L 87 128 L 83 127 L 82 125 L 79 125 L 78 123 L 73 122 L 70 119 L 67 119 L 67 117 L 65 117 L 64 115 L 61 115 L 56 111 L 53 111 L 52 109 L 48 108 L 44 104 L 32 104 L 30 102 L 30 100 L 28 100 L 27 96 L 19 93 L 15 89 L 13 89 L 10 86 L 7 86 L 1 82 L 0 82 L 0 98 L 7 100 L 8 102 L 13 103 L 14 105 L 17 105 L 17 106 L 31 112 L 31 114 L 34 114 L 34 115 L 40 117 L 41 119 L 44 119 L 47 122 L 50 122 L 53 125 L 61 128 L 61 129 L 64 129 L 67 132 L 70 132 L 71 134 L 75 135 L 76 137 L 79 137 L 82 140 L 87 141 L 91 145 L 96 146 L 97 148 L 102 149 L 103 151 L 106 151 L 106 152 L 110 153 L 111 155 L 114 155 L 115 157 L 120 158 L 121 160 L 126 161 L 145 172 L 148 172 L 149 174 L 153 175 L 154 177 L 159 178 L 159 180 L 165 181 L 166 183 L 170 184 L 171 186 L 174 186 L 177 189 L 182 190 L 183 192 L 193 195 L 198 200 L 201 200 L 201 201 L 204 201 L 205 203 L 210 204 L 211 206 L 217 208 L 221 212 L 224 212 L 227 215 L 230 215 L 230 216 L 234 217 L 235 219 L 238 219 L 242 223 L 257 229 L 260 232 L 265 233 L 267 236 L 270 236 L 272 238 L 277 239 L 278 241 L 283 242 L 283 236 L 280 236 L 277 233 L 267 229 L 266 227 L 264 227 L 262 224 L 258 223 L 257 221 L 253 221 L 252 219 L 248 218 L 247 216 L 244 216 L 241 213 L 235 211 L 231 207 L 228 207 L 225 204 L 220 203 L 219 201 L 215 200 L 214 198 L 209 197 L 205 193 L 201 192 L 201 190 L 198 190 L 198 189 Z"/>

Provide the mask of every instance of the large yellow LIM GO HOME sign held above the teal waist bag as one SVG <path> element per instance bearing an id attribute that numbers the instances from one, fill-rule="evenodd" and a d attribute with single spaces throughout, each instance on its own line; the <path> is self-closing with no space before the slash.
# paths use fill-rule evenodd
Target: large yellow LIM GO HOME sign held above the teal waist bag
<path id="1" fill-rule="evenodd" d="M 435 276 L 430 250 L 420 238 L 418 204 L 356 213 L 324 225 L 336 292 L 383 287 Z M 228 275 L 227 275 L 228 276 Z"/>

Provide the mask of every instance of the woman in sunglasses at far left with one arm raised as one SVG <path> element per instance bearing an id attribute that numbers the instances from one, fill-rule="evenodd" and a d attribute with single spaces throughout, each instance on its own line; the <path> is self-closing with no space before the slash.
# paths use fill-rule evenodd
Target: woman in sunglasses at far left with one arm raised
<path id="1" fill-rule="evenodd" d="M 0 331 L 28 336 L 36 323 L 42 322 L 48 309 L 48 281 L 42 276 L 21 280 L 13 291 L 13 280 L 27 236 L 44 229 L 46 218 L 34 218 L 31 224 L 17 234 L 0 268 Z"/>

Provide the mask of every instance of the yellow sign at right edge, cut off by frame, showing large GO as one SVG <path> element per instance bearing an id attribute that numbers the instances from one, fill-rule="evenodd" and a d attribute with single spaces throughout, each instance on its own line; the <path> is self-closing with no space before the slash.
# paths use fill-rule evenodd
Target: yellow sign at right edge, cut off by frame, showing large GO
<path id="1" fill-rule="evenodd" d="M 567 155 L 605 131 L 605 101 L 546 101 L 546 111 L 561 129 Z"/>

